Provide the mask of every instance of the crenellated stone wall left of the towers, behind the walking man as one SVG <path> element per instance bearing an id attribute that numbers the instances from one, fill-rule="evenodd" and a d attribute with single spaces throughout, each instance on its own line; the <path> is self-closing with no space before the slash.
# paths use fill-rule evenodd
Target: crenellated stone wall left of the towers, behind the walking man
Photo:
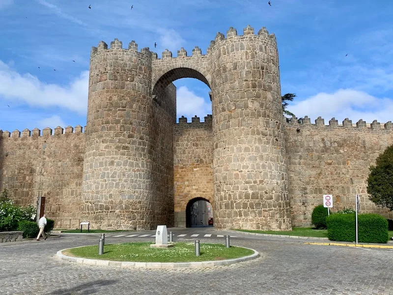
<path id="1" fill-rule="evenodd" d="M 84 159 L 82 127 L 0 132 L 0 191 L 21 206 L 37 206 L 46 197 L 45 212 L 57 228 L 78 228 Z M 63 134 L 64 133 L 64 134 Z M 22 136 L 21 136 L 22 135 Z"/>

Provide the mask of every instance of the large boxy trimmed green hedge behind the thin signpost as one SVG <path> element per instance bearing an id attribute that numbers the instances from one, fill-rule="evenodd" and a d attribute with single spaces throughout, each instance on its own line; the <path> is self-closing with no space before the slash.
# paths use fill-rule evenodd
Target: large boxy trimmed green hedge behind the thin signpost
<path id="1" fill-rule="evenodd" d="M 326 218 L 328 238 L 332 241 L 355 241 L 355 214 L 332 214 Z M 360 243 L 387 243 L 388 221 L 378 214 L 358 214 Z"/>

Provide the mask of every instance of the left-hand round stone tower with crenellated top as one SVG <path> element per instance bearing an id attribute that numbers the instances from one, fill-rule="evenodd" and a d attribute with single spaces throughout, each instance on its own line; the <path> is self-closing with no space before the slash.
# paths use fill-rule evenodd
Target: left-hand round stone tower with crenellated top
<path id="1" fill-rule="evenodd" d="M 151 77 L 151 52 L 138 52 L 134 41 L 128 49 L 117 39 L 110 49 L 103 41 L 92 48 L 82 219 L 93 228 L 170 226 L 173 201 L 155 193 Z"/>

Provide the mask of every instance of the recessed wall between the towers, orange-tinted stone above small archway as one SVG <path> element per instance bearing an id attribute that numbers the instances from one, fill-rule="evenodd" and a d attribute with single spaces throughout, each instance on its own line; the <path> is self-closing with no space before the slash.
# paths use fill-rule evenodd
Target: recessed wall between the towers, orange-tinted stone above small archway
<path id="1" fill-rule="evenodd" d="M 213 134 L 211 116 L 174 127 L 174 214 L 176 227 L 186 226 L 186 206 L 194 198 L 213 201 Z"/>

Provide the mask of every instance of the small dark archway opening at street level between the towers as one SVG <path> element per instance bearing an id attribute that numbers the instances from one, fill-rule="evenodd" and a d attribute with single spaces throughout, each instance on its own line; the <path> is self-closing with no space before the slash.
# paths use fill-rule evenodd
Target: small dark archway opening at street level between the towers
<path id="1" fill-rule="evenodd" d="M 213 208 L 210 202 L 204 198 L 190 200 L 186 207 L 186 227 L 208 227 L 213 225 Z"/>

